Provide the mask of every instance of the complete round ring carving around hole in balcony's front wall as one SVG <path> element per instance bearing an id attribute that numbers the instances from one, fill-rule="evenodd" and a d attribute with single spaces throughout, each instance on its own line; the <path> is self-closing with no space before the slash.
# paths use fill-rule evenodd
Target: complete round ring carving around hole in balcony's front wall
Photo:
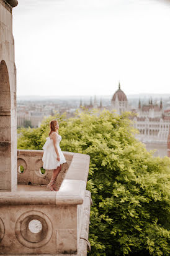
<path id="1" fill-rule="evenodd" d="M 38 220 L 42 224 L 42 229 L 38 233 L 33 233 L 29 229 L 31 220 Z M 53 232 L 52 224 L 47 215 L 39 211 L 29 211 L 22 214 L 16 222 L 16 237 L 20 244 L 34 249 L 47 244 Z"/>

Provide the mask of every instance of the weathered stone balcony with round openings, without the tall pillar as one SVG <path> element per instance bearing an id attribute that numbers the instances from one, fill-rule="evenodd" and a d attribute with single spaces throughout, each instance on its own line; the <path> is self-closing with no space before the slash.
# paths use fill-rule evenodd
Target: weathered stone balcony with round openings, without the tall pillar
<path id="1" fill-rule="evenodd" d="M 17 191 L 0 192 L 0 255 L 87 254 L 89 156 L 64 154 L 58 191 L 49 191 L 52 171 L 42 173 L 43 151 L 17 151 Z"/>

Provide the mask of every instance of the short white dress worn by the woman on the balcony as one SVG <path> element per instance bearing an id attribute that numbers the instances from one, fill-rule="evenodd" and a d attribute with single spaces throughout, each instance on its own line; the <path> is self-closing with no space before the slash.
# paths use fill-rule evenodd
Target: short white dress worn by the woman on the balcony
<path id="1" fill-rule="evenodd" d="M 47 138 L 47 141 L 43 145 L 43 169 L 51 170 L 51 169 L 56 169 L 60 164 L 66 163 L 65 156 L 63 152 L 61 151 L 60 148 L 60 141 L 61 141 L 61 136 L 57 135 L 57 141 L 56 141 L 56 146 L 58 149 L 58 153 L 60 156 L 60 161 L 56 160 L 56 152 L 55 152 L 55 147 L 53 144 L 53 140 L 50 139 L 50 137 Z"/>

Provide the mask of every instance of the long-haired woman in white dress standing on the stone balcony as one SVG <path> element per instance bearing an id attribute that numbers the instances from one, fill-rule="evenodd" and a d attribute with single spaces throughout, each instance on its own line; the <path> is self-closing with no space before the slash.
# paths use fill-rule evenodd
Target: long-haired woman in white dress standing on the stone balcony
<path id="1" fill-rule="evenodd" d="M 56 177 L 61 171 L 61 164 L 66 163 L 65 156 L 60 148 L 61 136 L 58 135 L 58 121 L 50 121 L 50 133 L 45 145 L 43 145 L 43 169 L 53 169 L 53 175 L 51 177 L 50 183 L 47 187 L 50 191 L 56 191 L 55 182 Z"/>

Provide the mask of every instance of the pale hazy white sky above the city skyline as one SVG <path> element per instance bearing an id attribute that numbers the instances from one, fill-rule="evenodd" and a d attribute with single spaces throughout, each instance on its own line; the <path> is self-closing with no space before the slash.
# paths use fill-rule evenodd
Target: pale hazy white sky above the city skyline
<path id="1" fill-rule="evenodd" d="M 17 95 L 170 93 L 170 1 L 19 0 Z"/>

